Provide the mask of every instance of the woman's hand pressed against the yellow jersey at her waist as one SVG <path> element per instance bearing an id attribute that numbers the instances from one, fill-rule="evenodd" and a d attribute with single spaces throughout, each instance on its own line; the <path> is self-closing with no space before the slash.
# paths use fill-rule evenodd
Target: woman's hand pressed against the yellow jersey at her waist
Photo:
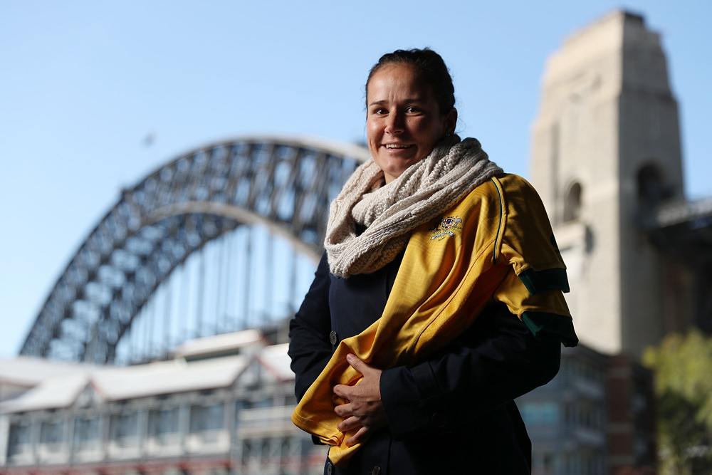
<path id="1" fill-rule="evenodd" d="M 363 375 L 363 380 L 355 386 L 334 386 L 334 394 L 349 401 L 334 409 L 336 414 L 344 418 L 337 429 L 347 432 L 360 427 L 353 437 L 346 440 L 347 447 L 351 447 L 365 441 L 369 434 L 388 424 L 388 420 L 381 402 L 381 370 L 367 365 L 356 355 L 346 355 L 346 360 Z"/>

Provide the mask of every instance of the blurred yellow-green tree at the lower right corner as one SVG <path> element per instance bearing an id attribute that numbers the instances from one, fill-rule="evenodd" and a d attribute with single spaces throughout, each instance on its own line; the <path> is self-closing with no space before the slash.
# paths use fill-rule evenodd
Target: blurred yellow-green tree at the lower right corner
<path id="1" fill-rule="evenodd" d="M 712 339 L 668 335 L 643 364 L 655 371 L 660 473 L 712 474 Z"/>

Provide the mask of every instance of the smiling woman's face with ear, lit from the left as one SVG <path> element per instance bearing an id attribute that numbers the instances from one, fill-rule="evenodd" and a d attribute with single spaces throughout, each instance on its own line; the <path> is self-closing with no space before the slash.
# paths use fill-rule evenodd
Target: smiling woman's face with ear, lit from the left
<path id="1" fill-rule="evenodd" d="M 366 90 L 366 134 L 373 160 L 386 183 L 423 160 L 446 133 L 453 133 L 457 110 L 441 117 L 432 88 L 417 69 L 403 64 L 383 66 Z"/>

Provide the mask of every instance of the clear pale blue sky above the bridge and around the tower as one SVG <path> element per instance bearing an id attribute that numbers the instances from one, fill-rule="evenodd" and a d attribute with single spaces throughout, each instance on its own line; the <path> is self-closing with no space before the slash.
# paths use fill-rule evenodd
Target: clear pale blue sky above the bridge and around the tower
<path id="1" fill-rule="evenodd" d="M 362 141 L 367 71 L 396 48 L 441 53 L 461 135 L 527 176 L 547 55 L 621 7 L 662 34 L 687 194 L 711 196 L 710 1 L 4 0 L 0 355 L 19 350 L 122 187 L 181 152 L 250 132 Z"/>

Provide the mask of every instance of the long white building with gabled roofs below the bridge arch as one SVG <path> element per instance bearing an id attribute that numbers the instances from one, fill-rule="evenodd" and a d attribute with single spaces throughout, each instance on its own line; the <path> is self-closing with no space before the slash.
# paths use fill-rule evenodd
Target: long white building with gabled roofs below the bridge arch
<path id="1" fill-rule="evenodd" d="M 323 472 L 326 447 L 290 420 L 287 345 L 256 330 L 131 367 L 3 360 L 0 384 L 17 388 L 0 403 L 2 475 Z"/>

